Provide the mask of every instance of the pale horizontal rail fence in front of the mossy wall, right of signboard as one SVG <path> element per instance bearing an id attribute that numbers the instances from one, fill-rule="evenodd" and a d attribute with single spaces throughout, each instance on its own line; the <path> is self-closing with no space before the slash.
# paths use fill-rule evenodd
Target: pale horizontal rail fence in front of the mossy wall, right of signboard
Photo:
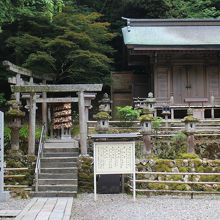
<path id="1" fill-rule="evenodd" d="M 136 176 L 139 174 L 149 174 L 149 175 L 188 175 L 188 176 L 195 176 L 195 175 L 199 175 L 199 176 L 220 176 L 220 173 L 188 173 L 188 172 L 136 172 L 135 173 Z M 131 179 L 131 182 L 133 180 Z M 135 195 L 137 192 L 148 192 L 148 193 L 179 193 L 179 194 L 190 194 L 191 198 L 193 198 L 194 194 L 220 194 L 220 191 L 196 191 L 196 190 L 157 190 L 157 189 L 141 189 L 138 188 L 137 183 L 164 183 L 164 184 L 188 184 L 188 185 L 192 185 L 192 184 L 200 184 L 200 185 L 213 185 L 213 184 L 217 184 L 220 186 L 220 181 L 174 181 L 174 180 L 150 180 L 150 179 L 140 179 L 139 177 L 136 177 L 135 180 Z M 133 191 L 133 187 L 132 184 L 129 184 L 129 187 L 131 189 L 131 191 Z"/>

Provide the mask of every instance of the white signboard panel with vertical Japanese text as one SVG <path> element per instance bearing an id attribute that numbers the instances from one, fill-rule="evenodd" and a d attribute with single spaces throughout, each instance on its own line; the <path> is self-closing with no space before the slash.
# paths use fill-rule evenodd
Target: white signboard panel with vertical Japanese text
<path id="1" fill-rule="evenodd" d="M 94 143 L 96 174 L 126 174 L 134 172 L 134 142 Z"/>

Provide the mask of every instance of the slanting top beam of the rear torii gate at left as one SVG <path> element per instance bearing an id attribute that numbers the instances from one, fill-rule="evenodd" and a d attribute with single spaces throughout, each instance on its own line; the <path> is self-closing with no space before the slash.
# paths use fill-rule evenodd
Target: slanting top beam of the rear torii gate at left
<path id="1" fill-rule="evenodd" d="M 3 61 L 2 62 L 3 66 L 6 67 L 7 70 L 13 72 L 13 73 L 16 73 L 16 74 L 21 74 L 23 76 L 28 76 L 28 77 L 33 77 L 35 79 L 44 79 L 44 80 L 48 80 L 48 81 L 53 81 L 53 77 L 50 77 L 50 76 L 47 76 L 47 75 L 37 75 L 37 74 L 34 74 L 32 73 L 31 70 L 28 70 L 26 68 L 23 68 L 23 67 L 20 67 L 20 66 L 17 66 L 7 60 Z"/>

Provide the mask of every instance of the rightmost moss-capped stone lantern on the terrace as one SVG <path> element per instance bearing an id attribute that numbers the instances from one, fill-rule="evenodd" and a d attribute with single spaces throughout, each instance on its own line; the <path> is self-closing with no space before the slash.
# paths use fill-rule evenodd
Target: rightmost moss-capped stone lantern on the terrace
<path id="1" fill-rule="evenodd" d="M 194 133 L 196 131 L 196 123 L 199 120 L 193 117 L 193 111 L 191 108 L 187 110 L 187 116 L 184 117 L 183 122 L 185 122 L 185 130 L 187 134 L 187 153 L 195 153 L 195 137 Z"/>

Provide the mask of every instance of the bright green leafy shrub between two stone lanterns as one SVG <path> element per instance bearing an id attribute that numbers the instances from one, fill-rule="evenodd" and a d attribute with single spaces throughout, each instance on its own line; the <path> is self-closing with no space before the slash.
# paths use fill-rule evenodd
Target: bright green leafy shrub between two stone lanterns
<path id="1" fill-rule="evenodd" d="M 122 121 L 134 121 L 137 120 L 140 111 L 133 109 L 132 106 L 116 107 L 117 114 Z"/>

